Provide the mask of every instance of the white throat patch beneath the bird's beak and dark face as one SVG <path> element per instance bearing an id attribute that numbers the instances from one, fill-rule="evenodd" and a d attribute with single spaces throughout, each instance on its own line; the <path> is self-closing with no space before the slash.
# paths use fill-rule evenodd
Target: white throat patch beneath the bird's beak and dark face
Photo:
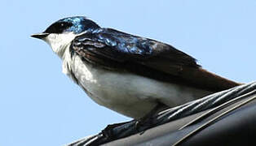
<path id="1" fill-rule="evenodd" d="M 51 33 L 46 36 L 44 41 L 51 45 L 51 49 L 55 54 L 58 54 L 60 58 L 63 58 L 65 49 L 69 48 L 71 41 L 73 41 L 76 36 L 77 35 L 73 32 L 65 32 L 62 34 Z"/>

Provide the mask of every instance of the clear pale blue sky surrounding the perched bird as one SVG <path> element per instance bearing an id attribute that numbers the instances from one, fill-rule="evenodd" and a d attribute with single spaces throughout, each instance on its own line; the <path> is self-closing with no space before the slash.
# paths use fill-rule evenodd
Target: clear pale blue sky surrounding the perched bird
<path id="1" fill-rule="evenodd" d="M 1 146 L 64 145 L 130 120 L 91 101 L 30 37 L 67 16 L 174 45 L 228 79 L 256 80 L 255 0 L 2 0 L 0 14 Z"/>

